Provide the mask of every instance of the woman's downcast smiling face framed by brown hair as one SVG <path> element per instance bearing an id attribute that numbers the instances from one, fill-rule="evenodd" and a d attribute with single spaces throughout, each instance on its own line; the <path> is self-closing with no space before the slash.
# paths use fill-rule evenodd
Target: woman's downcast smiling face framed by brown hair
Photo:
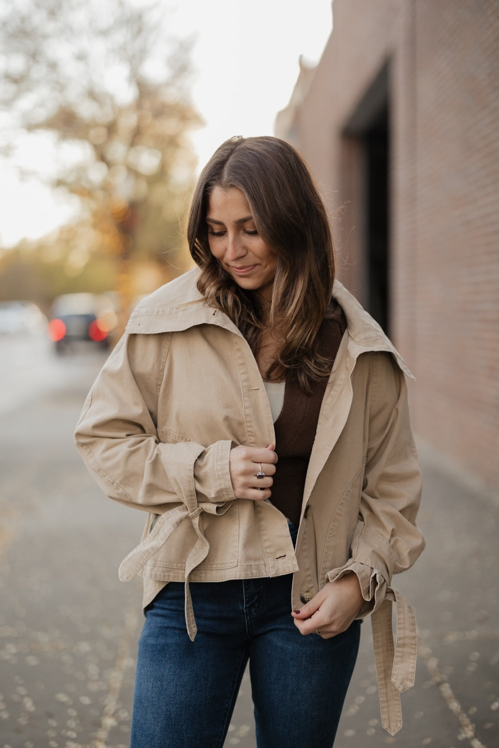
<path id="1" fill-rule="evenodd" d="M 240 189 L 214 187 L 206 212 L 209 250 L 238 286 L 272 298 L 277 255 L 257 232 Z"/>

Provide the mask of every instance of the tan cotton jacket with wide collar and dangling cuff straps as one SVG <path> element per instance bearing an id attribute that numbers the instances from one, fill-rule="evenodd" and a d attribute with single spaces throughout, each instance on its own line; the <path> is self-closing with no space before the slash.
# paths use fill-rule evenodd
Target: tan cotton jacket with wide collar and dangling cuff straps
<path id="1" fill-rule="evenodd" d="M 379 325 L 335 283 L 348 330 L 322 401 L 295 551 L 278 509 L 233 494 L 231 447 L 275 443 L 274 427 L 248 343 L 206 304 L 197 278 L 192 270 L 138 305 L 76 429 L 76 446 L 105 494 L 149 512 L 120 578 L 144 577 L 144 606 L 166 582 L 184 581 L 194 639 L 189 580 L 294 572 L 291 611 L 354 571 L 366 601 L 359 617 L 372 613 L 383 726 L 394 734 L 402 724 L 399 691 L 414 682 L 416 630 L 391 578 L 424 547 L 404 377 L 411 374 Z"/>

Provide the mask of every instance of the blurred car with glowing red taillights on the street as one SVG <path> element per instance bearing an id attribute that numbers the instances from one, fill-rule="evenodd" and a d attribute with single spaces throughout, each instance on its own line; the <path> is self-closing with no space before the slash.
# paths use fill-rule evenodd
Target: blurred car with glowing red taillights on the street
<path id="1" fill-rule="evenodd" d="M 48 332 L 58 353 L 72 343 L 94 343 L 108 348 L 117 324 L 111 296 L 93 293 L 65 293 L 54 299 Z"/>

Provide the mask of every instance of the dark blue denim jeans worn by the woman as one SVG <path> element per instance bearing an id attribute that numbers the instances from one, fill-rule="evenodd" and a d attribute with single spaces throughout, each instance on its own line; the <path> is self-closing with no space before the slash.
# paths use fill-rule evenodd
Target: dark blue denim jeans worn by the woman
<path id="1" fill-rule="evenodd" d="M 360 622 L 304 637 L 292 577 L 191 583 L 194 642 L 183 583 L 156 595 L 138 644 L 130 748 L 221 748 L 248 659 L 258 748 L 331 748 Z"/>

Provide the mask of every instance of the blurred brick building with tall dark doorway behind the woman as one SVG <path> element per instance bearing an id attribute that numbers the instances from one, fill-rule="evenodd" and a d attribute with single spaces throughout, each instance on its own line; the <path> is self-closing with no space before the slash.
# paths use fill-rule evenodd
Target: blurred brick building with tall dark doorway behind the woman
<path id="1" fill-rule="evenodd" d="M 499 3 L 334 0 L 333 19 L 276 134 L 319 183 L 338 278 L 417 378 L 417 435 L 497 491 Z"/>

